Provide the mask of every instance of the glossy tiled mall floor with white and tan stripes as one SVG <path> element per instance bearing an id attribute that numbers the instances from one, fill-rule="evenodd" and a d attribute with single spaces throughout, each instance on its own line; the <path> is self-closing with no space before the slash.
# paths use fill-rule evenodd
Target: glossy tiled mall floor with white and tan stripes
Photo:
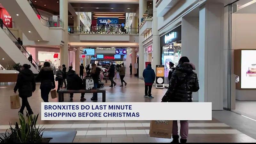
<path id="1" fill-rule="evenodd" d="M 117 85 L 109 87 L 105 84 L 107 102 L 160 102 L 166 89 L 152 90 L 154 99 L 144 98 L 144 82 L 133 76 L 126 76 L 126 87 Z M 39 114 L 37 124 L 45 131 L 77 131 L 74 142 L 171 142 L 172 139 L 149 137 L 150 121 L 41 121 L 40 84 L 36 84 L 36 91 L 29 98 L 35 114 Z M 1 84 L 0 101 L 0 132 L 9 128 L 9 122 L 18 122 L 18 110 L 10 109 L 10 95 L 13 95 L 14 84 Z M 74 95 L 74 102 L 79 102 L 79 94 Z M 92 94 L 85 94 L 86 102 L 91 102 Z M 50 102 L 58 99 L 49 98 Z M 68 94 L 64 100 L 69 101 Z M 99 94 L 99 101 L 101 101 Z M 150 110 L 150 108 L 145 108 Z M 171 114 L 172 110 L 168 111 Z M 163 112 L 164 113 L 164 112 Z M 230 111 L 213 111 L 212 121 L 190 121 L 188 142 L 256 142 L 256 122 Z"/>

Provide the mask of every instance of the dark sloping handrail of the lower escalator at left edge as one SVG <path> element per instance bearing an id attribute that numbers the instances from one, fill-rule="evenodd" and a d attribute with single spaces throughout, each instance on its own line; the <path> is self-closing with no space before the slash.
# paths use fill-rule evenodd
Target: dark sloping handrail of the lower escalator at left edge
<path id="1" fill-rule="evenodd" d="M 12 32 L 11 32 L 10 29 L 5 25 L 5 23 L 3 24 L 3 26 L 4 26 L 4 27 L 3 27 L 3 30 L 4 30 L 4 32 L 6 33 L 6 35 L 10 37 L 10 39 L 13 41 L 13 43 L 16 44 L 17 48 L 19 48 L 20 51 L 24 54 L 24 56 L 25 56 L 26 58 L 28 58 L 29 53 L 26 51 L 26 49 L 22 46 L 22 44 L 20 44 L 20 42 L 18 41 L 18 39 L 12 34 Z M 26 55 L 28 55 L 28 56 L 26 56 Z M 35 62 L 35 63 L 34 63 L 34 66 L 35 66 L 36 70 L 38 71 L 39 66 L 38 66 L 38 64 L 36 63 L 36 61 L 33 60 L 33 59 L 32 59 L 32 65 L 33 65 L 33 61 Z"/>

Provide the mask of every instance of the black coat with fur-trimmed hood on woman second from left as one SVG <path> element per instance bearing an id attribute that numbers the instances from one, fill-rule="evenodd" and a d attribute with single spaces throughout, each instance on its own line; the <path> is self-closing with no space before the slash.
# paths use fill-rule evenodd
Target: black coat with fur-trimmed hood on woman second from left
<path id="1" fill-rule="evenodd" d="M 42 87 L 55 88 L 55 79 L 54 79 L 53 70 L 54 70 L 53 67 L 41 68 L 39 74 L 36 76 L 36 81 L 41 81 L 40 89 Z"/>

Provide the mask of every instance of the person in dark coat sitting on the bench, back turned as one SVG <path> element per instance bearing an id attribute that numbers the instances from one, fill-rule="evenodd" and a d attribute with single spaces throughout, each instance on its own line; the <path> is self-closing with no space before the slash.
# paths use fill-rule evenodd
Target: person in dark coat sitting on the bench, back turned
<path id="1" fill-rule="evenodd" d="M 83 80 L 76 74 L 74 70 L 67 73 L 67 90 L 83 89 Z M 74 93 L 70 93 L 70 100 L 73 100 Z M 80 101 L 85 101 L 84 93 L 81 93 Z"/>

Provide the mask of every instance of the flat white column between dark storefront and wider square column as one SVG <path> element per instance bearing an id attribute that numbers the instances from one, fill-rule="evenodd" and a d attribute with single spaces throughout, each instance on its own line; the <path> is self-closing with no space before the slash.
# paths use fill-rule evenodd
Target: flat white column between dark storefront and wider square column
<path id="1" fill-rule="evenodd" d="M 188 57 L 196 66 L 198 74 L 199 17 L 183 17 L 181 20 L 181 55 Z M 193 101 L 198 101 L 198 92 L 193 92 Z"/>

